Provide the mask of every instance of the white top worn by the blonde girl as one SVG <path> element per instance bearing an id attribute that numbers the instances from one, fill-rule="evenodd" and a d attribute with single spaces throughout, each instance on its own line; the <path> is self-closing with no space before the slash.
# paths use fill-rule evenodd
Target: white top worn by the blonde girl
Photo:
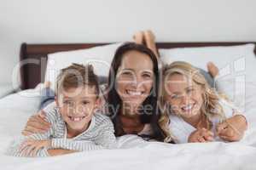
<path id="1" fill-rule="evenodd" d="M 227 102 L 224 99 L 219 100 L 219 104 L 223 107 L 224 115 L 226 118 L 230 118 L 231 116 L 234 116 L 235 112 L 240 113 L 236 109 L 236 107 L 229 102 Z M 193 133 L 196 128 L 190 125 L 188 122 L 185 122 L 182 117 L 176 116 L 176 115 L 170 115 L 170 124 L 169 128 L 174 135 L 176 139 L 174 141 L 177 144 L 183 144 L 188 143 L 189 135 Z M 212 122 L 212 132 L 214 133 L 214 139 L 215 141 L 223 141 L 222 139 L 219 139 L 216 134 L 216 127 L 218 123 L 220 122 L 220 119 L 218 116 L 214 116 L 210 118 L 210 121 Z"/>

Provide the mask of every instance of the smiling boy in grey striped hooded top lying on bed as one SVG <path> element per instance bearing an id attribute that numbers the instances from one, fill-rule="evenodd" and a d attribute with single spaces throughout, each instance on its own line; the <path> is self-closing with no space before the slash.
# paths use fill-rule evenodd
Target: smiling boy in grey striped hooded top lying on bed
<path id="1" fill-rule="evenodd" d="M 91 65 L 73 64 L 61 70 L 55 91 L 55 102 L 44 108 L 49 130 L 22 136 L 11 144 L 9 155 L 57 156 L 115 148 L 113 123 L 96 112 L 99 88 Z"/>

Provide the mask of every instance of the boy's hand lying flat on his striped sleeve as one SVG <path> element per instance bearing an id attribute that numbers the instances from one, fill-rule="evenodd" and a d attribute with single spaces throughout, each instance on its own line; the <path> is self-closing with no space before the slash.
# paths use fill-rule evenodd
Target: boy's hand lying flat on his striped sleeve
<path id="1" fill-rule="evenodd" d="M 22 156 L 37 156 L 38 150 L 49 148 L 51 141 L 28 139 L 20 145 Z"/>

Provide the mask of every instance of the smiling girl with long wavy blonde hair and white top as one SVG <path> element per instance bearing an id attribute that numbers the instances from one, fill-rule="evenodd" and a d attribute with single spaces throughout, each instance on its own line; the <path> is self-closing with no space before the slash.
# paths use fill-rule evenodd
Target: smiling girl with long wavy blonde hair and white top
<path id="1" fill-rule="evenodd" d="M 209 88 L 206 79 L 192 65 L 173 62 L 163 71 L 164 115 L 160 126 L 166 140 L 175 143 L 238 141 L 247 129 L 247 120 L 224 95 Z"/>

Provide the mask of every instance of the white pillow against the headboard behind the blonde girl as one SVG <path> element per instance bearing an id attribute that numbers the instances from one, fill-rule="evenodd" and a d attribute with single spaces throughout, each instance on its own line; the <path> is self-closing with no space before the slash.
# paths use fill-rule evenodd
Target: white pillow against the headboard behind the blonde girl
<path id="1" fill-rule="evenodd" d="M 255 82 L 254 48 L 255 44 L 249 43 L 227 47 L 160 49 L 159 52 L 164 64 L 180 60 L 207 71 L 207 62 L 212 61 L 218 66 L 220 77 L 236 77 L 242 73 Z"/>

